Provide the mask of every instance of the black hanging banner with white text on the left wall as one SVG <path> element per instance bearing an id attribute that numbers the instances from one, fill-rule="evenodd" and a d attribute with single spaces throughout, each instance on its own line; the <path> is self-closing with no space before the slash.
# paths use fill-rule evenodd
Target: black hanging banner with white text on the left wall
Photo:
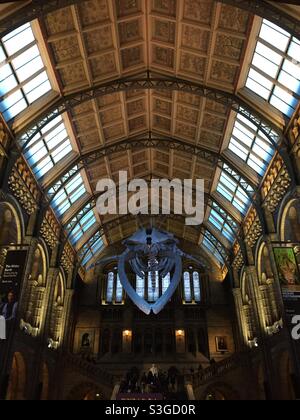
<path id="1" fill-rule="evenodd" d="M 0 276 L 0 315 L 6 321 L 17 316 L 18 301 L 27 260 L 27 250 L 8 250 Z"/>

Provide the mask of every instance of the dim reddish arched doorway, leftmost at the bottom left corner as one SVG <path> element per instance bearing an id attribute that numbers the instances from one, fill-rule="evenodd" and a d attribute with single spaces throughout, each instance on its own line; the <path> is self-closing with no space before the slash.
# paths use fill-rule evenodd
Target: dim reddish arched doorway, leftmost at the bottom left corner
<path id="1" fill-rule="evenodd" d="M 21 353 L 15 353 L 9 375 L 6 394 L 8 401 L 24 400 L 26 387 L 26 364 Z"/>

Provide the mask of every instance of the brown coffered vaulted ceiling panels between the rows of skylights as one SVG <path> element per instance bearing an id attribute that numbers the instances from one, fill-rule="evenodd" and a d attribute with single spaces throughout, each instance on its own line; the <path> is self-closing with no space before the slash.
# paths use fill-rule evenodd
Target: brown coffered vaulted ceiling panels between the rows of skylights
<path id="1" fill-rule="evenodd" d="M 83 159 L 80 166 L 87 196 L 62 221 L 68 223 L 87 203 L 94 203 L 99 179 L 118 180 L 122 170 L 128 171 L 129 179 L 203 178 L 206 204 L 217 202 L 239 224 L 242 216 L 229 209 L 215 189 L 222 162 L 240 171 L 254 187 L 259 185 L 253 171 L 223 153 L 229 142 L 228 129 L 233 126 L 232 103 L 238 104 L 240 83 L 255 47 L 253 35 L 259 31 L 254 15 L 214 0 L 69 3 L 75 4 L 41 15 L 36 30 L 43 38 L 41 55 L 51 63 L 57 104 L 62 97 L 76 98 L 80 92 L 89 95 L 95 86 L 105 86 L 105 94 L 75 99 L 65 109 L 74 151 L 41 180 L 42 186 L 49 191 L 58 175 L 60 179 L 78 162 L 78 156 L 94 158 Z M 129 86 L 124 80 L 140 80 L 140 85 Z M 154 83 L 151 88 L 151 80 L 164 83 Z M 49 102 L 43 112 L 55 108 L 53 97 L 51 101 L 52 108 Z M 244 105 L 242 99 L 240 104 Z M 253 110 L 253 103 L 249 109 Z M 42 116 L 47 114 L 43 112 Z M 30 125 L 26 121 L 26 127 Z M 16 123 L 15 129 L 18 132 Z M 105 242 L 113 244 L 149 220 L 97 215 L 97 225 L 79 248 L 99 229 Z M 183 218 L 152 222 L 197 245 L 203 238 L 205 225 L 188 227 Z M 230 248 L 220 233 L 209 226 L 206 229 Z"/>

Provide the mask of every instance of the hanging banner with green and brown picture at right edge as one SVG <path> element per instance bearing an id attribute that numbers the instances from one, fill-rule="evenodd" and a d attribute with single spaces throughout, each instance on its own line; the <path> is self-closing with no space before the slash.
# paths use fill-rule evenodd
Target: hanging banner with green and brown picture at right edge
<path id="1" fill-rule="evenodd" d="M 286 244 L 273 248 L 277 271 L 281 283 L 282 297 L 287 322 L 291 330 L 292 319 L 300 316 L 300 247 Z"/>

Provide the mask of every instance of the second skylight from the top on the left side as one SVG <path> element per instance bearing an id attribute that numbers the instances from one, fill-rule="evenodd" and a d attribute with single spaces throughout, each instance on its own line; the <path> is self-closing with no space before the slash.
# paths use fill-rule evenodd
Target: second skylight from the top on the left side
<path id="1" fill-rule="evenodd" d="M 61 116 L 44 127 L 28 144 L 24 155 L 37 179 L 44 176 L 72 151 Z"/>

